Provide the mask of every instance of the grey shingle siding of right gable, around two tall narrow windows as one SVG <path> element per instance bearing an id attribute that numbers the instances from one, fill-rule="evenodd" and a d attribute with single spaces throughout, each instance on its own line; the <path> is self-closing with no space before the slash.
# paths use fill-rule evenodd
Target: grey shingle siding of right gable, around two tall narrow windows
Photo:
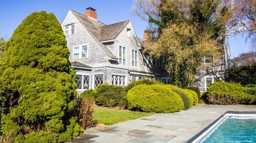
<path id="1" fill-rule="evenodd" d="M 154 72 L 161 74 L 160 67 L 147 64 L 147 54 L 142 54 L 142 51 L 138 49 L 139 45 L 136 40 L 136 36 L 134 35 L 134 31 L 131 31 L 130 38 L 127 37 L 127 28 L 132 29 L 130 22 L 117 36 L 116 40 L 118 42 L 105 44 L 110 49 L 110 51 L 117 57 L 119 57 L 118 45 L 126 46 L 126 66 L 118 65 L 117 62 L 108 62 L 108 66 L 127 70 Z M 132 67 L 132 49 L 138 50 L 138 68 Z"/>

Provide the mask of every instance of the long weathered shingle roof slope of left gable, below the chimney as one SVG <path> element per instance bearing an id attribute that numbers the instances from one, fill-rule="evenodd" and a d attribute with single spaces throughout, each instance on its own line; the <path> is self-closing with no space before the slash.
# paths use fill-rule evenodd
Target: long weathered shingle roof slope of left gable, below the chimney
<path id="1" fill-rule="evenodd" d="M 77 13 L 73 10 L 70 10 L 73 15 L 77 18 L 77 20 L 82 24 L 82 26 L 89 32 L 89 34 L 93 37 L 96 43 L 102 48 L 103 52 L 110 57 L 110 59 L 117 60 L 118 58 L 107 48 L 106 45 L 100 42 L 100 27 L 106 26 L 101 22 L 90 19 L 87 16 L 84 16 L 80 13 Z"/>

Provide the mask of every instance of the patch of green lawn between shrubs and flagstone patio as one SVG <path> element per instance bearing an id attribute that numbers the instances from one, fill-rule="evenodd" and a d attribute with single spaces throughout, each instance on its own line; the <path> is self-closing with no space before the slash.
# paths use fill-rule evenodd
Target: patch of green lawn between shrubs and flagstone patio
<path id="1" fill-rule="evenodd" d="M 156 113 L 146 112 L 130 112 L 130 111 L 114 111 L 106 109 L 96 109 L 94 119 L 98 119 L 98 123 L 105 125 L 113 125 L 126 120 L 138 119 L 140 117 L 150 116 Z"/>

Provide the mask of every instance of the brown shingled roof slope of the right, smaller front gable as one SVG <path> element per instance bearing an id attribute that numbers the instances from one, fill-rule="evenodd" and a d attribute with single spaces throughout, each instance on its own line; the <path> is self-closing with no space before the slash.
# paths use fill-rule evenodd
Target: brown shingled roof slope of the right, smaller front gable
<path id="1" fill-rule="evenodd" d="M 130 20 L 100 27 L 100 41 L 115 39 Z"/>

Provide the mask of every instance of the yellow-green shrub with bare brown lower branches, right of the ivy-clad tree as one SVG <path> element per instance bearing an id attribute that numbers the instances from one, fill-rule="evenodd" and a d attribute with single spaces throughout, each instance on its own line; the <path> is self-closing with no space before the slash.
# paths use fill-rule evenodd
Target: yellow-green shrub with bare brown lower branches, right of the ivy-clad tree
<path id="1" fill-rule="evenodd" d="M 206 94 L 210 103 L 219 105 L 244 103 L 249 97 L 240 84 L 222 81 L 215 81 L 211 84 Z"/>

